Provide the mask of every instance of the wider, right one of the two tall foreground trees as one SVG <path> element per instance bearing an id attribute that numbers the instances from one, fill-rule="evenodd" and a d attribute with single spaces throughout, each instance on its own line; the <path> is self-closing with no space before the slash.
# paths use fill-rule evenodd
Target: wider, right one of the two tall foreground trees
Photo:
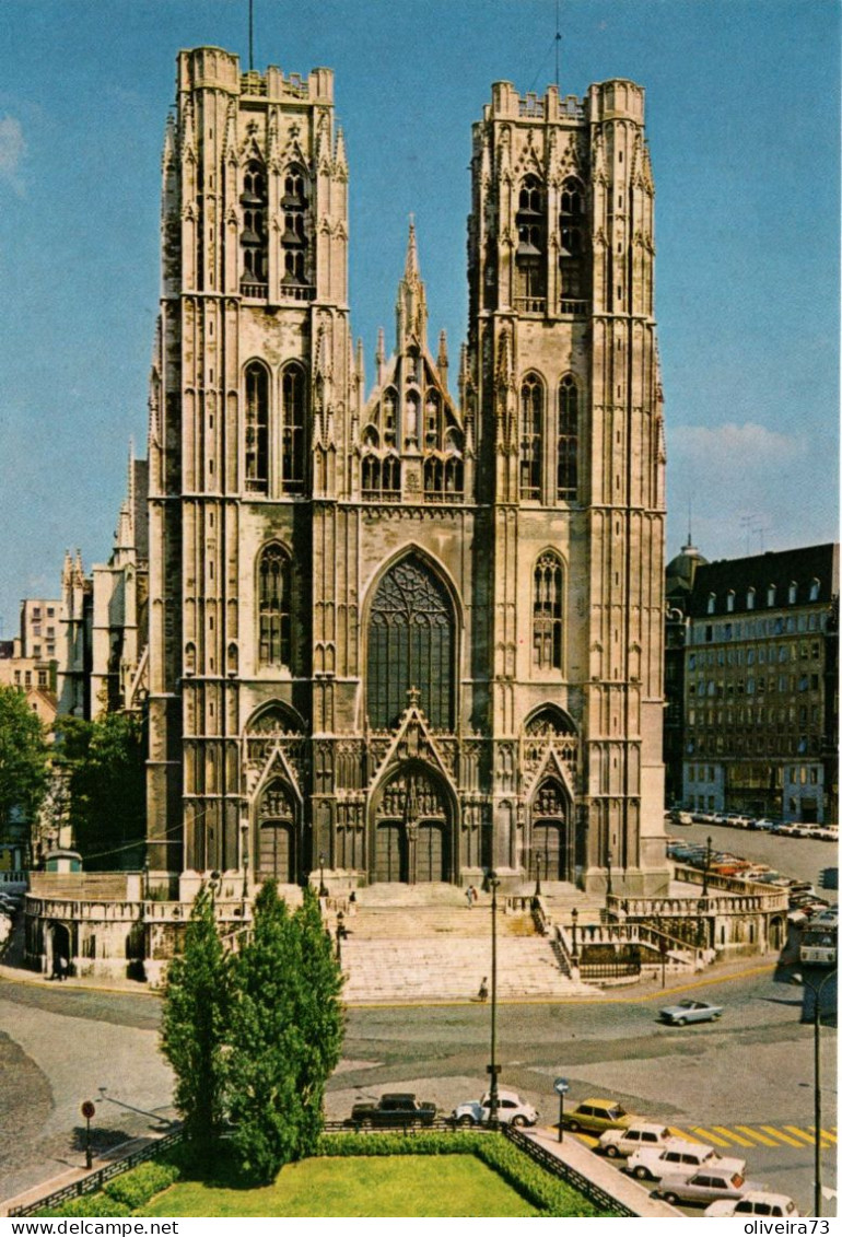
<path id="1" fill-rule="evenodd" d="M 229 1116 L 247 1178 L 313 1152 L 342 1043 L 341 975 L 312 891 L 291 915 L 268 881 L 234 964 Z"/>

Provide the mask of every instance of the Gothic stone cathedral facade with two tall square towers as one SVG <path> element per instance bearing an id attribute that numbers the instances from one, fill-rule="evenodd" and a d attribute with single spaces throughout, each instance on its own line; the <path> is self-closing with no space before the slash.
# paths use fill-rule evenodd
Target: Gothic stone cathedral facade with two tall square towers
<path id="1" fill-rule="evenodd" d="M 373 381 L 333 75 L 178 57 L 150 396 L 148 880 L 666 886 L 643 90 L 474 126 L 469 332 L 409 228 Z M 455 382 L 453 379 L 455 377 Z"/>

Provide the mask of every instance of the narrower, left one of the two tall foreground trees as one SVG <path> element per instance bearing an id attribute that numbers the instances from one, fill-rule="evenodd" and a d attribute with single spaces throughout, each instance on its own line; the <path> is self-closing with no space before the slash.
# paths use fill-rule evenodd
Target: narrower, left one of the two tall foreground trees
<path id="1" fill-rule="evenodd" d="M 176 1074 L 173 1102 L 200 1155 L 213 1154 L 225 1121 L 230 956 L 216 930 L 213 892 L 202 888 L 184 951 L 169 965 L 161 1023 L 161 1050 Z"/>

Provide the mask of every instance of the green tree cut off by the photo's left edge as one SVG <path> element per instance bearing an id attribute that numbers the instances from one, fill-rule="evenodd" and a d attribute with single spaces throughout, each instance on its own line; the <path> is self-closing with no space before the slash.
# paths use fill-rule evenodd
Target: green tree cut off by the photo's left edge
<path id="1" fill-rule="evenodd" d="M 37 815 L 47 789 L 49 755 L 43 726 L 22 691 L 0 687 L 0 839 L 20 818 Z"/>

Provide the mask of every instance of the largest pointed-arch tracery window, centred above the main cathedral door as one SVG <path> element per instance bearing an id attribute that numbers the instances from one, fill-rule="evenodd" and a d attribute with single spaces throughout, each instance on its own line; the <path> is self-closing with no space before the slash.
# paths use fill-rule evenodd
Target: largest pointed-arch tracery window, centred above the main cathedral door
<path id="1" fill-rule="evenodd" d="M 417 555 L 401 559 L 377 586 L 368 620 L 368 721 L 391 730 L 419 693 L 434 730 L 454 729 L 456 623 L 441 580 Z"/>

